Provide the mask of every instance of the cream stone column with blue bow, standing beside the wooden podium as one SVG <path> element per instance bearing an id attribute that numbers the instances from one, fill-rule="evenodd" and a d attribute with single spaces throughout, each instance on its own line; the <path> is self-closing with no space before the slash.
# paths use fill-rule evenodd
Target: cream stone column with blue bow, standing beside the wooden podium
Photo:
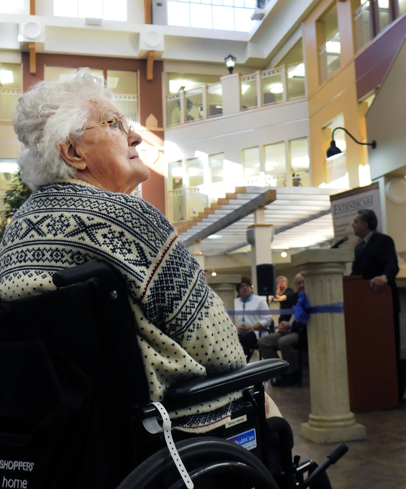
<path id="1" fill-rule="evenodd" d="M 342 302 L 342 274 L 345 263 L 353 259 L 350 249 L 307 249 L 292 255 L 312 306 Z M 312 314 L 307 335 L 311 413 L 300 434 L 320 444 L 364 440 L 366 428 L 355 422 L 350 411 L 344 314 Z"/>

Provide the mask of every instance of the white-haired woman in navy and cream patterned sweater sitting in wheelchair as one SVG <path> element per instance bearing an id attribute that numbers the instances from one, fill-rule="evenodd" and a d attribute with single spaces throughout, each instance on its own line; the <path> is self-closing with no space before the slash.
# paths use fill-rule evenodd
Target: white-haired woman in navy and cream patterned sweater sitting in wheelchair
<path id="1" fill-rule="evenodd" d="M 19 98 L 13 124 L 24 146 L 21 178 L 35 192 L 3 238 L 0 299 L 53 290 L 55 271 L 107 262 L 127 284 L 151 401 L 178 380 L 244 365 L 235 326 L 203 270 L 170 222 L 131 195 L 149 177 L 137 152 L 142 138 L 104 80 L 81 69 L 38 83 Z M 172 413 L 174 427 L 220 426 L 240 396 Z"/>

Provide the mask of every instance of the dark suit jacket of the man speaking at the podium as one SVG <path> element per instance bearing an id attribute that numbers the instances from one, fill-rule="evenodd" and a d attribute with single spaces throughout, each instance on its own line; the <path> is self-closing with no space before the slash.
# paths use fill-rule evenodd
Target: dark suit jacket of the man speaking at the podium
<path id="1" fill-rule="evenodd" d="M 392 238 L 375 231 L 361 253 L 358 253 L 359 246 L 358 244 L 355 247 L 351 275 L 362 275 L 365 280 L 386 275 L 388 285 L 392 289 L 394 309 L 399 311 L 399 293 L 395 284 L 399 267 Z"/>

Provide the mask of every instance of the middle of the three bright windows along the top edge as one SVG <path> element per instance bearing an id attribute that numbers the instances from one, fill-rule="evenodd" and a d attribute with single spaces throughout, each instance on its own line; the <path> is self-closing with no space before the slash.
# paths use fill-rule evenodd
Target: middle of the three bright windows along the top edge
<path id="1" fill-rule="evenodd" d="M 54 15 L 126 22 L 127 0 L 54 0 Z"/>

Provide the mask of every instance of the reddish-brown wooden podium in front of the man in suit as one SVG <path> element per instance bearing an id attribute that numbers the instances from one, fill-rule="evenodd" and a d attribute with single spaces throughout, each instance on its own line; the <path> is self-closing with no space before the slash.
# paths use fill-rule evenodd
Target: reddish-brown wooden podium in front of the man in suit
<path id="1" fill-rule="evenodd" d="M 343 277 L 350 409 L 378 411 L 398 404 L 392 291 L 373 292 L 361 276 Z"/>

